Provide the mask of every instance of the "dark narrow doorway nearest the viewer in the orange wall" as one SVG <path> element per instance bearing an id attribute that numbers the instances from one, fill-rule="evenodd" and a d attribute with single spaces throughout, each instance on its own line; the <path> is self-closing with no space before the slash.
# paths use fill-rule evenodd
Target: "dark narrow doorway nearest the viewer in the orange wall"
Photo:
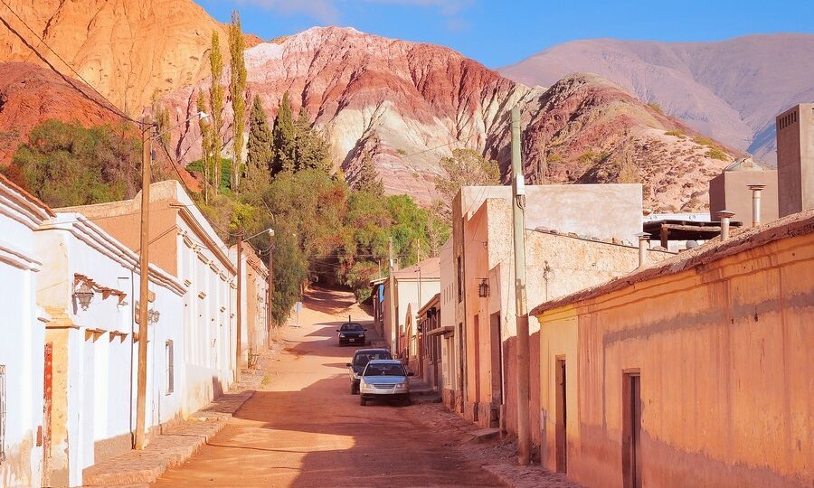
<path id="1" fill-rule="evenodd" d="M 641 488 L 641 377 L 639 371 L 623 376 L 622 470 L 625 488 Z"/>

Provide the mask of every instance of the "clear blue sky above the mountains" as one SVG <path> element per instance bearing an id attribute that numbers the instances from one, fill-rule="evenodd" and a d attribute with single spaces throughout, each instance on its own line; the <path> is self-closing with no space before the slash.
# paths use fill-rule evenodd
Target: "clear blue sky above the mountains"
<path id="1" fill-rule="evenodd" d="M 814 0 L 196 0 L 222 22 L 241 11 L 264 39 L 314 25 L 450 46 L 498 68 L 560 42 L 597 37 L 715 41 L 814 33 Z"/>

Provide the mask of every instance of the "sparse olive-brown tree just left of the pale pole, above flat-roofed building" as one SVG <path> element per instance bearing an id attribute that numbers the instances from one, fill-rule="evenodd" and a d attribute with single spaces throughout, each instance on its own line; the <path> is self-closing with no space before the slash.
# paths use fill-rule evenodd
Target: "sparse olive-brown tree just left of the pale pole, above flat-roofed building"
<path id="1" fill-rule="evenodd" d="M 440 199 L 433 208 L 444 221 L 452 221 L 452 199 L 462 186 L 500 184 L 497 161 L 479 155 L 471 149 L 455 149 L 450 157 L 440 160 L 444 174 L 435 179 Z"/>

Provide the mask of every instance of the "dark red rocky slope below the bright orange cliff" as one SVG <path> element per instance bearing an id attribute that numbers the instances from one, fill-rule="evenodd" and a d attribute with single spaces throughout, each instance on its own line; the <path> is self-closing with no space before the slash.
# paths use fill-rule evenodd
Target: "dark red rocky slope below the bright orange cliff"
<path id="1" fill-rule="evenodd" d="M 103 99 L 77 80 L 26 62 L 0 62 L 0 164 L 49 118 L 83 126 L 119 124 Z"/>

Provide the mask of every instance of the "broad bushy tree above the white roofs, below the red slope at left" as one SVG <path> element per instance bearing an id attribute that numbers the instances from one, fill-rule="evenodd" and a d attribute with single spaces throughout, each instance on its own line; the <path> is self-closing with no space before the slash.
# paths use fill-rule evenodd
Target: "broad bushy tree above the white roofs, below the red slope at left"
<path id="1" fill-rule="evenodd" d="M 140 187 L 141 143 L 127 128 L 47 120 L 34 127 L 5 174 L 52 207 L 132 198 Z"/>

